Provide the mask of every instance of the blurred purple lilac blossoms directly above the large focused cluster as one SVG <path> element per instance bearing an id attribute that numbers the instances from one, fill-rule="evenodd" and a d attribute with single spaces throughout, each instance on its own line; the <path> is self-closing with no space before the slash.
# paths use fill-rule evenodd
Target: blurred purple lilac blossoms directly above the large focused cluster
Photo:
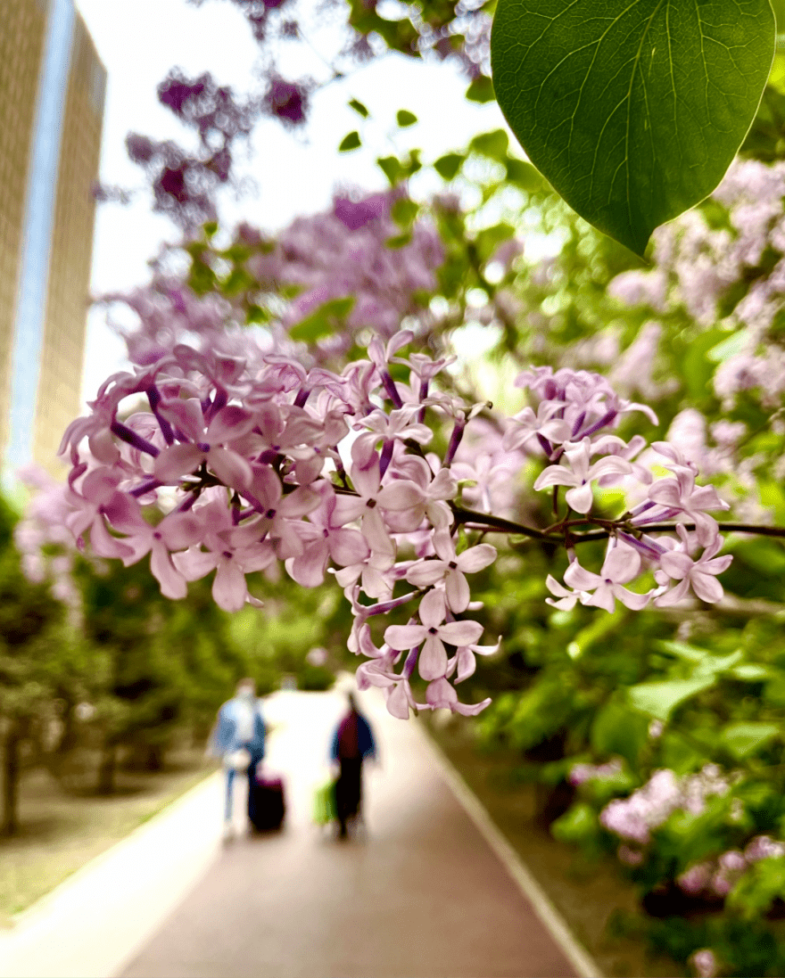
<path id="1" fill-rule="evenodd" d="M 106 294 L 100 301 L 113 310 L 115 304 L 125 306 L 133 315 L 132 328 L 118 321 L 115 329 L 125 339 L 131 361 L 140 365 L 153 363 L 180 342 L 259 363 L 273 347 L 303 358 L 302 344 L 289 339 L 289 331 L 324 303 L 347 296 L 353 302 L 346 328 L 310 343 L 307 356 L 312 361 L 335 363 L 363 331 L 389 339 L 404 319 L 417 333 L 425 333 L 434 317 L 422 296 L 437 287 L 435 270 L 444 249 L 436 228 L 422 219 L 412 225 L 406 244 L 388 246 L 400 231 L 392 208 L 402 194 L 400 189 L 365 197 L 339 194 L 329 210 L 296 218 L 270 241 L 250 225 L 240 225 L 237 243 L 255 251 L 245 263 L 255 283 L 254 301 L 274 297 L 274 315 L 266 327 L 272 342 L 252 337 L 245 328 L 243 297 L 214 292 L 198 297 L 181 277 L 165 270 L 163 259 L 150 285 Z M 298 291 L 290 301 L 281 299 L 287 289 Z"/>

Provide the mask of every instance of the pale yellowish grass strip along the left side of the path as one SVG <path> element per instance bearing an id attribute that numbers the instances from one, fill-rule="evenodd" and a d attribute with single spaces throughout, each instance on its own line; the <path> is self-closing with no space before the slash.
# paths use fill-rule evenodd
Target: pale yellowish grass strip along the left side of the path
<path id="1" fill-rule="evenodd" d="M 21 786 L 20 830 L 0 838 L 0 926 L 215 770 L 202 750 L 157 773 L 121 771 L 114 795 L 67 792 L 46 770 Z"/>

